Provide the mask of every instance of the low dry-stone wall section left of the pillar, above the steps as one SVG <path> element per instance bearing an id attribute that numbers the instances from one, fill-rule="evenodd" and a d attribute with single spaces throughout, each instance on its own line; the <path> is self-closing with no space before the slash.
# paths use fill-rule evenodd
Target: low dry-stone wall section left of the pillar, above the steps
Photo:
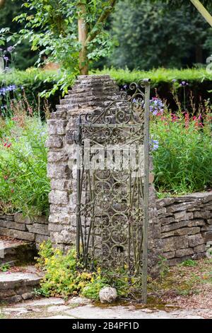
<path id="1" fill-rule="evenodd" d="M 20 213 L 0 215 L 0 235 L 35 242 L 39 246 L 49 239 L 48 218 L 24 218 Z"/>

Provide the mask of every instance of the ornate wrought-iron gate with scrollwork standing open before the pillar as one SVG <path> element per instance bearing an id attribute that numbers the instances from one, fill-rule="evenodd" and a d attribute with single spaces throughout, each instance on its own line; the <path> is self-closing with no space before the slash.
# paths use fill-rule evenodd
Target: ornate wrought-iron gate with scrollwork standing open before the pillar
<path id="1" fill-rule="evenodd" d="M 150 80 L 129 88 L 78 120 L 76 250 L 146 303 Z"/>

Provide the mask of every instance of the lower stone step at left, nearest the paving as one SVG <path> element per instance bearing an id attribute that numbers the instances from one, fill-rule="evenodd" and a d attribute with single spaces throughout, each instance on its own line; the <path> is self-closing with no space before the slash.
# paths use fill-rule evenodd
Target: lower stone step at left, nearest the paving
<path id="1" fill-rule="evenodd" d="M 41 278 L 34 268 L 18 273 L 0 273 L 0 303 L 18 303 L 33 298 Z"/>

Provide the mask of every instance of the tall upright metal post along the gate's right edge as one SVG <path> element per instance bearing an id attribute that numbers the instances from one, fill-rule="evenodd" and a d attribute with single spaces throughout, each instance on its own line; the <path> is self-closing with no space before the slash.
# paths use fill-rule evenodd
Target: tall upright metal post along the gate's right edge
<path id="1" fill-rule="evenodd" d="M 145 114 L 144 114 L 144 185 L 143 185 L 143 272 L 142 300 L 147 301 L 147 270 L 148 270 L 148 201 L 149 201 L 149 113 L 150 113 L 150 79 L 143 80 L 145 84 Z"/>

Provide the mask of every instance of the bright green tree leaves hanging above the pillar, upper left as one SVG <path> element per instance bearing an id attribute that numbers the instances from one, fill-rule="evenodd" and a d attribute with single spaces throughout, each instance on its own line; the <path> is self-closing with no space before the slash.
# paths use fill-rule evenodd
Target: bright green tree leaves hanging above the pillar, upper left
<path id="1" fill-rule="evenodd" d="M 83 19 L 81 24 L 88 30 L 86 57 L 90 61 L 97 60 L 107 55 L 112 46 L 109 35 L 102 28 L 115 2 L 26 0 L 23 13 L 13 19 L 24 24 L 24 28 L 9 36 L 8 28 L 1 29 L 1 44 L 4 45 L 5 38 L 13 43 L 29 40 L 32 50 L 39 51 L 38 66 L 44 58 L 47 62 L 60 64 L 62 76 L 57 84 L 66 91 L 79 72 L 79 52 L 83 45 L 78 41 L 78 18 Z"/>

